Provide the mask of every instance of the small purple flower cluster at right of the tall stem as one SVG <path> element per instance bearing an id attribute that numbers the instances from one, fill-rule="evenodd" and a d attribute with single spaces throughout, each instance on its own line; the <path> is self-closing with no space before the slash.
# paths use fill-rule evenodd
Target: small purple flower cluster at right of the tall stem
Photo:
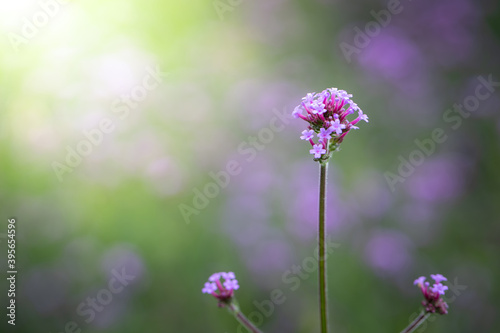
<path id="1" fill-rule="evenodd" d="M 435 281 L 432 287 L 429 282 L 424 282 L 426 279 L 425 276 L 421 276 L 413 282 L 414 285 L 420 288 L 424 295 L 425 300 L 422 301 L 422 305 L 426 312 L 447 314 L 448 304 L 441 298 L 444 292 L 448 290 L 448 287 L 441 282 L 447 281 L 447 279 L 441 274 L 431 274 L 431 278 Z"/>

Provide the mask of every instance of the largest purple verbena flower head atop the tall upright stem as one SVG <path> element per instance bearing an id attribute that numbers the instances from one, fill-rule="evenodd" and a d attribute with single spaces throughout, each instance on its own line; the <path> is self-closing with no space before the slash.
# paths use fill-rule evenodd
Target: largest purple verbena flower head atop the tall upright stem
<path id="1" fill-rule="evenodd" d="M 351 97 L 345 90 L 328 88 L 317 94 L 308 93 L 293 110 L 294 118 L 301 118 L 308 123 L 300 138 L 310 142 L 313 149 L 309 152 L 314 155 L 315 161 L 328 161 L 346 134 L 351 129 L 358 129 L 355 125 L 360 120 L 368 122 L 368 116 Z M 347 116 L 355 113 L 357 117 L 349 121 Z M 316 141 L 314 133 L 317 134 Z"/>

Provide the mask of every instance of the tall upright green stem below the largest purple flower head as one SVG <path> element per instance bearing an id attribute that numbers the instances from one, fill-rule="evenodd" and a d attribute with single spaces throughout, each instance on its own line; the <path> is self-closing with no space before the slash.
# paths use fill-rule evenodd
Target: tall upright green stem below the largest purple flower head
<path id="1" fill-rule="evenodd" d="M 319 173 L 319 309 L 321 319 L 321 332 L 328 332 L 328 307 L 326 299 L 327 278 L 326 278 L 326 181 L 328 162 L 320 163 Z"/>

